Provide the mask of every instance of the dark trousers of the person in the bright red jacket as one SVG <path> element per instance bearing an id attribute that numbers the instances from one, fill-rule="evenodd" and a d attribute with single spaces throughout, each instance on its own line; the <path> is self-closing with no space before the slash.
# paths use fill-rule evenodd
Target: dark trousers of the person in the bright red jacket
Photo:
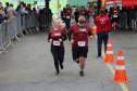
<path id="1" fill-rule="evenodd" d="M 97 39 L 98 43 L 98 56 L 101 56 L 101 51 L 102 51 L 102 42 L 104 43 L 104 52 L 107 52 L 107 43 L 109 39 L 109 34 L 108 32 L 99 32 Z"/>

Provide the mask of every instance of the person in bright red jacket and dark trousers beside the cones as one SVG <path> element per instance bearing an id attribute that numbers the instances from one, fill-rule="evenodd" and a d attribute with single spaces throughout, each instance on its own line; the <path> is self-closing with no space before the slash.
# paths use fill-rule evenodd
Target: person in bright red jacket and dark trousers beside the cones
<path id="1" fill-rule="evenodd" d="M 102 42 L 104 43 L 104 52 L 107 51 L 107 42 L 109 39 L 109 32 L 111 31 L 111 21 L 107 16 L 103 9 L 100 10 L 100 14 L 96 17 L 95 24 L 97 26 L 97 43 L 98 43 L 98 55 L 101 57 Z"/>

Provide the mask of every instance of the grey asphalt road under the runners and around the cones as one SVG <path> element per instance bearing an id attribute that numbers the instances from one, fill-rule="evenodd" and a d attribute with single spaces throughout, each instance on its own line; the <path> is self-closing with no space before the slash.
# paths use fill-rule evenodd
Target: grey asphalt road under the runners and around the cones
<path id="1" fill-rule="evenodd" d="M 136 91 L 137 83 L 137 32 L 111 34 L 113 51 L 123 50 L 129 82 L 129 91 Z M 64 69 L 55 76 L 53 58 L 47 34 L 27 35 L 0 54 L 0 91 L 123 91 L 112 81 L 113 75 L 102 58 L 97 58 L 96 40 L 89 39 L 89 53 L 85 77 L 72 61 L 71 44 L 65 41 Z M 116 57 L 116 56 L 115 56 Z M 114 66 L 112 64 L 112 66 Z"/>

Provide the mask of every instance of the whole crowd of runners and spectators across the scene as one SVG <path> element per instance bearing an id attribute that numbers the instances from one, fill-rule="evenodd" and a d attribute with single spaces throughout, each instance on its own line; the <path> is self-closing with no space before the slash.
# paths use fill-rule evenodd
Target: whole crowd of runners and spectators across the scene
<path id="1" fill-rule="evenodd" d="M 68 39 L 72 44 L 73 61 L 79 64 L 79 76 L 84 76 L 84 68 L 88 55 L 88 37 L 95 37 L 92 31 L 96 27 L 97 35 L 97 57 L 102 56 L 102 43 L 104 52 L 107 51 L 107 42 L 109 32 L 112 27 L 117 29 L 132 29 L 137 27 L 137 8 L 120 8 L 114 5 L 107 10 L 88 4 L 87 6 L 71 8 L 66 4 L 62 11 L 58 12 L 58 16 L 52 18 L 50 9 L 32 9 L 30 4 L 23 1 L 14 9 L 12 3 L 7 2 L 2 6 L 0 2 L 0 23 L 4 23 L 15 17 L 17 14 L 25 15 L 34 13 L 39 17 L 39 28 L 45 30 L 50 27 L 48 41 L 51 42 L 51 53 L 54 60 L 57 75 L 60 74 L 60 68 L 63 69 L 65 47 L 63 41 Z"/>

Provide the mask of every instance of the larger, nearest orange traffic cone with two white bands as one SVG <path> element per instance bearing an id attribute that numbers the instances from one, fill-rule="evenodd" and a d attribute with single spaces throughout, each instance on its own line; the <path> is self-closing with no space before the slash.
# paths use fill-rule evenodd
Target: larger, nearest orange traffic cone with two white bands
<path id="1" fill-rule="evenodd" d="M 114 82 L 127 82 L 127 75 L 125 70 L 125 61 L 123 56 L 123 52 L 119 51 L 117 62 L 115 67 L 115 74 L 113 78 Z"/>

